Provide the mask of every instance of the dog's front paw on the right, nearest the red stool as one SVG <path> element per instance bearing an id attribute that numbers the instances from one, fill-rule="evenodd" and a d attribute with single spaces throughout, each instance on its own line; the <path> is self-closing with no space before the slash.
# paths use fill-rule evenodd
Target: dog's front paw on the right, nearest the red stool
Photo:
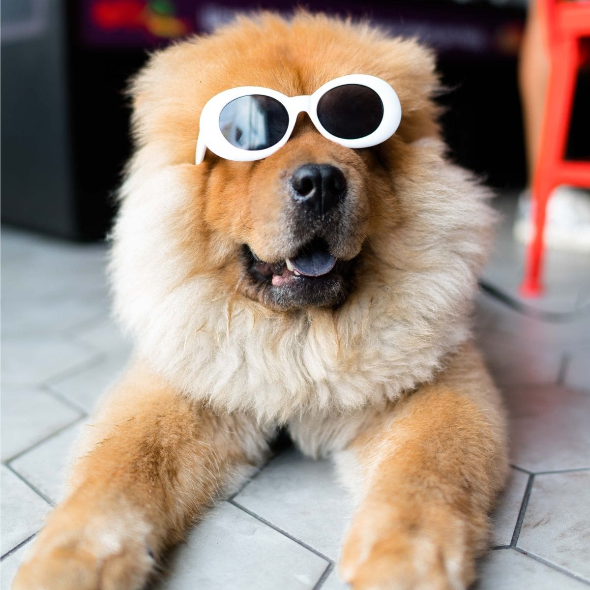
<path id="1" fill-rule="evenodd" d="M 343 545 L 340 577 L 354 590 L 464 590 L 486 530 L 485 517 L 474 525 L 448 509 L 363 509 Z"/>

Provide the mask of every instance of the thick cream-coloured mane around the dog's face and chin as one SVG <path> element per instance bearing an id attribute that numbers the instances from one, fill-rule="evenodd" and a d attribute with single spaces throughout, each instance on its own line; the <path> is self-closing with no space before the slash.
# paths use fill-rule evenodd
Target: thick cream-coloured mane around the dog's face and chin
<path id="1" fill-rule="evenodd" d="M 112 282 L 137 352 L 186 395 L 260 421 L 352 411 L 429 381 L 470 337 L 493 221 L 489 193 L 443 154 L 438 140 L 405 146 L 395 181 L 404 222 L 370 236 L 357 286 L 337 310 L 275 312 L 217 271 L 192 274 L 176 223 L 189 208 L 189 165 L 132 172 Z"/>

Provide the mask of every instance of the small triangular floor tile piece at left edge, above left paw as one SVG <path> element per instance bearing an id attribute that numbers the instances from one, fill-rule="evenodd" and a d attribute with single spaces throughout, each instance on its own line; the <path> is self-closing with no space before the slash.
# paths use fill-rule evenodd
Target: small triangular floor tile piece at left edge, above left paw
<path id="1" fill-rule="evenodd" d="M 42 519 L 50 509 L 49 504 L 30 487 L 2 465 L 2 555 L 36 533 Z"/>

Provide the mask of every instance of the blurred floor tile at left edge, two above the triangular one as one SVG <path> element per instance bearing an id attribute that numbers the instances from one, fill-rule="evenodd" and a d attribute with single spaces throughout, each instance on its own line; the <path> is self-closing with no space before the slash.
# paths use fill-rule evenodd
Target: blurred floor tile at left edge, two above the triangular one
<path id="1" fill-rule="evenodd" d="M 2 383 L 39 385 L 80 368 L 97 353 L 68 336 L 12 335 L 2 340 Z"/>

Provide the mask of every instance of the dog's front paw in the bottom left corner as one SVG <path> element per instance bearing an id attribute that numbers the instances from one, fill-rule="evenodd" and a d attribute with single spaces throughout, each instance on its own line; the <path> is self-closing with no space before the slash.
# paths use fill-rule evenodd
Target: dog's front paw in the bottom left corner
<path id="1" fill-rule="evenodd" d="M 22 563 L 12 590 L 143 587 L 155 565 L 145 527 L 126 517 L 76 521 L 76 515 L 67 512 L 54 515 Z"/>

